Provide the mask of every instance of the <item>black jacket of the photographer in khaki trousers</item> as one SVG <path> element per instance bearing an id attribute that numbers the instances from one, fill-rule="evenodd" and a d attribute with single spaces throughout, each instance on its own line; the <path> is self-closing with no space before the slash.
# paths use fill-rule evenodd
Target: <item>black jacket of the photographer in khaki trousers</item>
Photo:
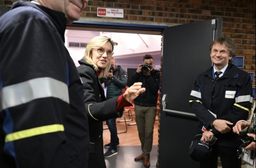
<path id="1" fill-rule="evenodd" d="M 142 87 L 146 88 L 146 91 L 134 99 L 134 104 L 146 107 L 156 106 L 160 85 L 160 71 L 153 69 L 148 76 L 145 76 L 142 72 L 134 72 L 128 86 L 130 87 L 136 82 L 142 82 Z"/>

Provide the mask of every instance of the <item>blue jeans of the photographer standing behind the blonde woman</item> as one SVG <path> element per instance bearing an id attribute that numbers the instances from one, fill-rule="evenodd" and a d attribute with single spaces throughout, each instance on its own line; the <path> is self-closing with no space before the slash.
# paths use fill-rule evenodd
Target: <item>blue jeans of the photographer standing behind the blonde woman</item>
<path id="1" fill-rule="evenodd" d="M 112 118 L 106 121 L 108 129 L 110 131 L 110 148 L 116 150 L 117 145 L 119 145 L 119 138 L 117 137 L 116 129 L 116 118 Z"/>

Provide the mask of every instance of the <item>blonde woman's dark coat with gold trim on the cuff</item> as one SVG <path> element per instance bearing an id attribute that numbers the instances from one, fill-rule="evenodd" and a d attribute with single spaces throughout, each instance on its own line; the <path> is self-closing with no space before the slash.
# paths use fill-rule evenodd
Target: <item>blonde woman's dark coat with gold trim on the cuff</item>
<path id="1" fill-rule="evenodd" d="M 92 65 L 79 60 L 77 70 L 84 86 L 85 113 L 89 121 L 90 147 L 89 168 L 106 168 L 103 153 L 103 121 L 121 117 L 123 109 L 116 111 L 116 100 L 106 100 L 104 89 Z"/>

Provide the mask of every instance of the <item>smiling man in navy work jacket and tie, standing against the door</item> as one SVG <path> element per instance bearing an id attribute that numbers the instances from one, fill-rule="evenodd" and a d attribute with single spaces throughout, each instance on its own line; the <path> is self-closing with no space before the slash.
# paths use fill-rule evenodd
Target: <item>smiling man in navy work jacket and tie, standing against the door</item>
<path id="1" fill-rule="evenodd" d="M 210 156 L 200 162 L 201 168 L 217 168 L 218 154 L 222 168 L 241 168 L 239 135 L 231 130 L 239 120 L 247 120 L 253 98 L 249 74 L 229 64 L 235 56 L 232 39 L 216 38 L 210 45 L 213 66 L 198 75 L 190 94 L 201 141 L 207 142 L 213 135 L 218 138 Z"/>

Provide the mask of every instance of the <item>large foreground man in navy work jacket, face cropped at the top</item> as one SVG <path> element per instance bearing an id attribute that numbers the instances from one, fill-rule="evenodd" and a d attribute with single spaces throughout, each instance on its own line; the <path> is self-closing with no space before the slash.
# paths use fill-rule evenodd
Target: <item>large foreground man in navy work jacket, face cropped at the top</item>
<path id="1" fill-rule="evenodd" d="M 64 46 L 87 2 L 17 1 L 0 17 L 0 168 L 87 168 L 83 85 Z"/>

